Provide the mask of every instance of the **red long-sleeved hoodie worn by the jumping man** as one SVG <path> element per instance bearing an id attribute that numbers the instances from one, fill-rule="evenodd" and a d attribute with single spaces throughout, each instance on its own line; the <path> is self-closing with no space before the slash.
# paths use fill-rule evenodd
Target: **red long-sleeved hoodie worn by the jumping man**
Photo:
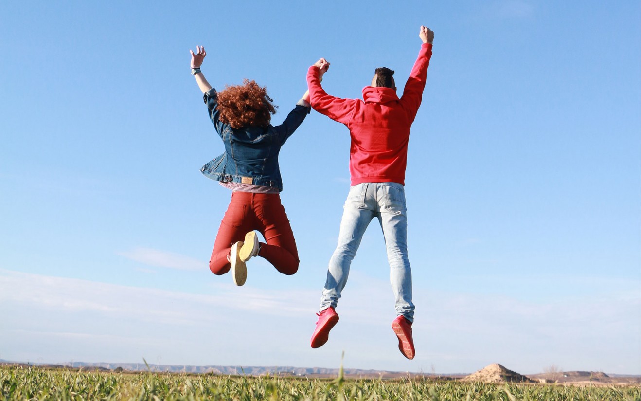
<path id="1" fill-rule="evenodd" d="M 312 65 L 307 71 L 313 109 L 349 128 L 351 185 L 405 185 L 410 126 L 419 110 L 431 56 L 432 45 L 423 44 L 400 99 L 394 89 L 385 87 L 363 88 L 363 100 L 335 98 L 320 86 L 318 67 Z"/>

